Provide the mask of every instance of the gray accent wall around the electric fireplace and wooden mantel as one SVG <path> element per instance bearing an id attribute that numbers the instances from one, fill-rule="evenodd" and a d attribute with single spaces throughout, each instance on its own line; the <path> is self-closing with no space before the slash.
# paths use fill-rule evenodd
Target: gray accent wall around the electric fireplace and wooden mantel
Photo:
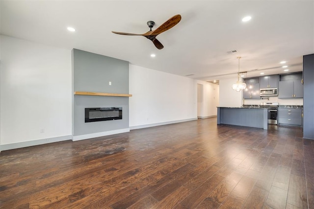
<path id="1" fill-rule="evenodd" d="M 129 94 L 128 61 L 77 49 L 72 59 L 74 92 Z M 88 107 L 122 107 L 122 120 L 85 123 Z M 129 97 L 74 95 L 73 136 L 122 129 L 129 129 Z"/>

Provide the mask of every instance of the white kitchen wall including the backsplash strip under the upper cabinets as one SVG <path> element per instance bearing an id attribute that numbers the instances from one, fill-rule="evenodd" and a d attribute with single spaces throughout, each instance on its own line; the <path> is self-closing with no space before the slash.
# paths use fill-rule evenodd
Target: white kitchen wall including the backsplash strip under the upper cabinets
<path id="1" fill-rule="evenodd" d="M 243 105 L 242 91 L 236 92 L 232 89 L 234 78 L 219 80 L 219 106 L 238 107 Z M 269 100 L 246 99 L 244 104 L 261 104 L 261 102 L 278 102 L 279 105 L 303 105 L 303 99 L 278 99 L 269 97 Z"/>

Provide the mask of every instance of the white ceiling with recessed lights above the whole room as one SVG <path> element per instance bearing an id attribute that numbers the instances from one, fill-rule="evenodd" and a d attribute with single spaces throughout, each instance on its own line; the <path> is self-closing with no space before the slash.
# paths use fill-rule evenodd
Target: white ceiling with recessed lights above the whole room
<path id="1" fill-rule="evenodd" d="M 156 29 L 176 14 L 181 22 L 157 36 L 162 50 L 111 32 L 144 33 L 147 21 Z M 236 79 L 237 56 L 252 77 L 284 73 L 283 60 L 302 71 L 302 56 L 314 53 L 314 0 L 0 0 L 0 24 L 3 35 L 204 81 Z"/>

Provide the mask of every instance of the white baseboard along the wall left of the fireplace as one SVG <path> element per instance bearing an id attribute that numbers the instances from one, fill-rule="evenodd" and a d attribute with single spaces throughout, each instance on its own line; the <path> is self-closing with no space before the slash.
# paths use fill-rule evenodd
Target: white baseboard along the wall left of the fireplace
<path id="1" fill-rule="evenodd" d="M 58 137 L 52 137 L 52 138 L 46 138 L 46 139 L 37 139 L 37 140 L 32 140 L 32 141 L 17 142 L 17 143 L 12 143 L 12 144 L 1 144 L 0 151 L 13 150 L 13 149 L 18 149 L 18 148 L 23 148 L 23 147 L 36 146 L 36 145 L 48 144 L 48 143 L 53 143 L 53 142 L 58 142 L 58 141 L 66 141 L 66 140 L 71 140 L 71 139 L 72 139 L 72 135 L 67 135 L 67 136 L 58 136 Z"/>

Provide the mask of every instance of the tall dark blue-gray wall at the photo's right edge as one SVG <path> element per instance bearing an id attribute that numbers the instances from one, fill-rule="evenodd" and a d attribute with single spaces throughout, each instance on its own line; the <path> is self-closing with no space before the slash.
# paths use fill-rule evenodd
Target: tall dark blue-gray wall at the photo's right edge
<path id="1" fill-rule="evenodd" d="M 314 139 L 314 54 L 303 56 L 303 138 Z"/>

